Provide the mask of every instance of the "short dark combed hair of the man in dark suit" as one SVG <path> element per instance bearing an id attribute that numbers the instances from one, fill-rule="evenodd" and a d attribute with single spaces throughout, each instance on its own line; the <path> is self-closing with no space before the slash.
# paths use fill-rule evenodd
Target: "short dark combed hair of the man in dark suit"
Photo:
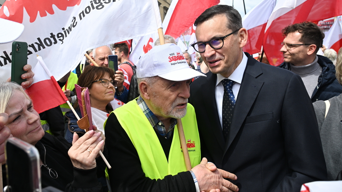
<path id="1" fill-rule="evenodd" d="M 195 26 L 213 18 L 216 15 L 225 15 L 227 17 L 228 29 L 235 31 L 242 28 L 242 19 L 240 13 L 229 5 L 215 5 L 211 8 L 208 8 L 195 20 Z"/>

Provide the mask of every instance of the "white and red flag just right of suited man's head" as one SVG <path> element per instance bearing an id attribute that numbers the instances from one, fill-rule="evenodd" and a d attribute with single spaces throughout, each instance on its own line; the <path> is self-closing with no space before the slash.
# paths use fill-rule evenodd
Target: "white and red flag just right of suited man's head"
<path id="1" fill-rule="evenodd" d="M 247 29 L 248 40 L 243 50 L 250 54 L 261 50 L 264 31 L 276 0 L 263 0 L 242 18 L 242 27 Z"/>

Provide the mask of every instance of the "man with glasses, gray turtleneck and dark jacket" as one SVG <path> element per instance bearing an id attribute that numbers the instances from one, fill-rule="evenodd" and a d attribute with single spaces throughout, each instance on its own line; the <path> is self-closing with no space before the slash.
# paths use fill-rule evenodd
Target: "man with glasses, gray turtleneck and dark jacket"
<path id="1" fill-rule="evenodd" d="M 311 22 L 296 23 L 282 30 L 285 36 L 280 51 L 284 62 L 279 66 L 298 74 L 311 101 L 328 100 L 342 93 L 335 66 L 327 57 L 316 55 L 324 33 Z"/>

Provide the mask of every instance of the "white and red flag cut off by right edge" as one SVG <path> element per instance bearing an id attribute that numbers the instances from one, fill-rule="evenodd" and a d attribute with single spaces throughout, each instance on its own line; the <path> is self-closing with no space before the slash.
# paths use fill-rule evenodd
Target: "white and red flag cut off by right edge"
<path id="1" fill-rule="evenodd" d="M 342 47 L 342 16 L 338 16 L 329 31 L 325 34 L 323 44 L 327 49 L 333 49 L 339 52 Z"/>

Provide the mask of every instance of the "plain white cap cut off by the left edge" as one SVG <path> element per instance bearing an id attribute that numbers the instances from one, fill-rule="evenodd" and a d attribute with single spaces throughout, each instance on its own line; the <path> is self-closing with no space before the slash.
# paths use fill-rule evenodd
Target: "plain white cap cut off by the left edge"
<path id="1" fill-rule="evenodd" d="M 16 40 L 24 31 L 24 25 L 11 20 L 0 18 L 0 43 L 8 43 Z"/>

